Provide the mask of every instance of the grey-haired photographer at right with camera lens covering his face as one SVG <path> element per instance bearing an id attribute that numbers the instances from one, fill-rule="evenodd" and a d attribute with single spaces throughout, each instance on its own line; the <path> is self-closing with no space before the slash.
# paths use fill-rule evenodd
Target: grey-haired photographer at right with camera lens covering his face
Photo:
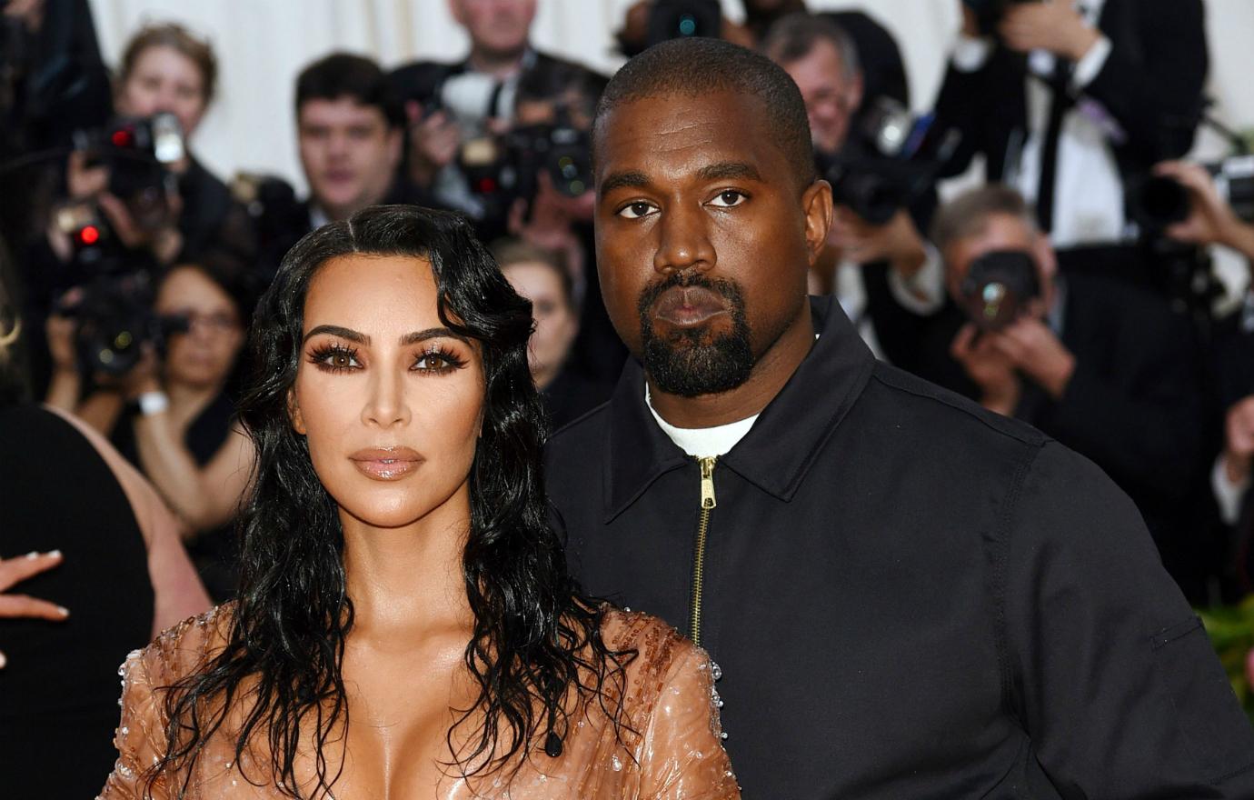
<path id="1" fill-rule="evenodd" d="M 969 321 L 953 386 L 1088 456 L 1136 500 L 1164 562 L 1196 596 L 1190 535 L 1201 415 L 1191 329 L 1160 297 L 1060 275 L 1031 207 L 1011 188 L 967 192 L 937 214 L 933 241 Z"/>

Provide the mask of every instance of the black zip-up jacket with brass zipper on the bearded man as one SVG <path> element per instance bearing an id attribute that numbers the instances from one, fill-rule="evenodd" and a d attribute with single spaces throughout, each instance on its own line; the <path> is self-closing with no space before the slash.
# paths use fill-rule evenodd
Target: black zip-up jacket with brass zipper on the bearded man
<path id="1" fill-rule="evenodd" d="M 1127 497 L 811 303 L 821 336 L 706 509 L 745 796 L 1254 797 L 1254 731 Z M 701 471 L 638 364 L 548 464 L 584 588 L 688 632 Z"/>

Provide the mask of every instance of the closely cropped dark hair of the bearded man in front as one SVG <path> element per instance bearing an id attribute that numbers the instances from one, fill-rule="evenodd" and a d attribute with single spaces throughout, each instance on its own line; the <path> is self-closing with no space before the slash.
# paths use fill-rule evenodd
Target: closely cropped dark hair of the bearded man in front
<path id="1" fill-rule="evenodd" d="M 660 97 L 735 92 L 762 105 L 762 122 L 793 166 L 801 186 L 815 181 L 810 120 L 801 90 L 784 69 L 760 53 L 720 39 L 672 39 L 635 56 L 609 80 L 592 125 L 592 150 L 606 117 L 619 105 Z M 727 124 L 740 124 L 730 119 Z"/>

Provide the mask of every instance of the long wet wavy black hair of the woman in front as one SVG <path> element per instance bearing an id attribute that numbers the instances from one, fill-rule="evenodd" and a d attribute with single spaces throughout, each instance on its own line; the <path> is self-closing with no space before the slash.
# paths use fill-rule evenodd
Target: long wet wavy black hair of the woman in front
<path id="1" fill-rule="evenodd" d="M 483 433 L 470 475 L 470 530 L 463 553 L 474 631 L 465 666 L 479 686 L 448 734 L 470 729 L 469 752 L 448 766 L 463 775 L 513 771 L 543 740 L 559 754 L 571 716 L 597 702 L 616 731 L 624 667 L 633 651 L 601 638 L 606 606 L 581 593 L 547 522 L 542 475 L 543 415 L 527 366 L 530 303 L 502 276 L 459 216 L 413 206 L 376 206 L 302 238 L 283 258 L 257 306 L 252 374 L 240 419 L 256 443 L 253 490 L 241 509 L 241 589 L 224 650 L 166 695 L 166 755 L 148 772 L 189 787 L 192 767 L 227 713 L 251 703 L 234 741 L 236 762 L 265 736 L 268 776 L 301 799 L 293 772 L 310 730 L 319 785 L 330 796 L 325 751 L 342 749 L 349 721 L 345 639 L 352 601 L 345 589 L 344 532 L 303 436 L 292 429 L 288 390 L 301 359 L 305 296 L 319 268 L 352 253 L 413 256 L 431 265 L 440 320 L 482 346 L 487 384 Z M 572 696 L 578 703 L 568 703 Z M 247 707 L 247 706 L 246 706 Z M 573 707 L 573 710 L 572 710 Z M 303 737 L 303 739 L 302 739 Z M 256 752 L 256 750 L 253 750 Z M 522 757 L 519 757 L 522 756 Z M 260 776 L 246 776 L 256 782 Z"/>

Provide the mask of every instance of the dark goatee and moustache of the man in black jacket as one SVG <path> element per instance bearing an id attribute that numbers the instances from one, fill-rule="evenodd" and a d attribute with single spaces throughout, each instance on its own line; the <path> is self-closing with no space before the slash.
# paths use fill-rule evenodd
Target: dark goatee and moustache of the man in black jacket
<path id="1" fill-rule="evenodd" d="M 730 306 L 731 332 L 710 337 L 709 331 L 701 327 L 660 337 L 653 330 L 650 308 L 662 292 L 676 286 L 700 286 L 722 295 Z M 755 364 L 754 351 L 745 318 L 745 298 L 734 281 L 712 281 L 700 275 L 676 272 L 646 287 L 640 295 L 637 310 L 645 370 L 660 390 L 696 397 L 730 391 L 749 380 Z"/>

